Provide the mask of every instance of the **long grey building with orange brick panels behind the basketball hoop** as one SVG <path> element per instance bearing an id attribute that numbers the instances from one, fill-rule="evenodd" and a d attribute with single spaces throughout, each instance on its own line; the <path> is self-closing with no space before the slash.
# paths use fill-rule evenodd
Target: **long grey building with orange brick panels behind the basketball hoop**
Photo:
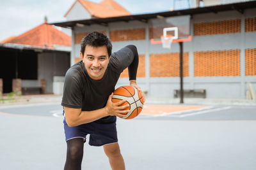
<path id="1" fill-rule="evenodd" d="M 210 4 L 210 3 L 209 3 Z M 174 97 L 179 89 L 179 44 L 172 49 L 152 45 L 155 21 L 189 16 L 191 41 L 184 43 L 184 89 L 205 90 L 209 98 L 245 98 L 246 82 L 256 87 L 256 2 L 213 4 L 186 10 L 122 17 L 68 20 L 54 25 L 72 28 L 70 64 L 79 60 L 81 38 L 104 32 L 113 52 L 125 45 L 138 47 L 138 84 L 149 97 Z M 129 83 L 127 71 L 117 86 Z"/>

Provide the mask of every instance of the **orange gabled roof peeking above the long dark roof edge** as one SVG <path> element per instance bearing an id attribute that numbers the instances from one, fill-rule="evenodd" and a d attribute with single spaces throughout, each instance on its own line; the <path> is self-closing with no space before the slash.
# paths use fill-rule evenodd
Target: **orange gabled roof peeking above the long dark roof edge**
<path id="1" fill-rule="evenodd" d="M 125 10 L 125 8 L 113 0 L 104 0 L 99 4 L 85 0 L 76 0 L 64 17 L 67 17 L 68 13 L 72 10 L 76 3 L 80 3 L 92 17 L 107 18 L 131 15 L 129 11 Z"/>

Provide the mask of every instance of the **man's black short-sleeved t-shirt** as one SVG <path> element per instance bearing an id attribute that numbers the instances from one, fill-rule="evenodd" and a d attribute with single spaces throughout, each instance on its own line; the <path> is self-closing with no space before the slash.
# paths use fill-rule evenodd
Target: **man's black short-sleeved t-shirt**
<path id="1" fill-rule="evenodd" d="M 112 53 L 108 68 L 101 80 L 90 78 L 83 61 L 77 62 L 65 75 L 61 105 L 68 108 L 81 108 L 82 111 L 104 108 L 109 95 L 115 90 L 120 74 L 133 60 L 134 52 L 129 46 Z M 96 122 L 108 122 L 108 120 L 111 120 L 111 117 L 100 118 Z"/>

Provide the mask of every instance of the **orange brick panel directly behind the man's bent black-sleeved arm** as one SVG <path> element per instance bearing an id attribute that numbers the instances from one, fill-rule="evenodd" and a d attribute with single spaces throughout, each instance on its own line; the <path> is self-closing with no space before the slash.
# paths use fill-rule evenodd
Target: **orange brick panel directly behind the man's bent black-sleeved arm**
<path id="1" fill-rule="evenodd" d="M 145 77 L 145 55 L 139 55 L 139 66 L 137 71 L 137 77 Z M 120 75 L 120 78 L 129 78 L 128 68 L 123 71 L 123 73 Z"/>

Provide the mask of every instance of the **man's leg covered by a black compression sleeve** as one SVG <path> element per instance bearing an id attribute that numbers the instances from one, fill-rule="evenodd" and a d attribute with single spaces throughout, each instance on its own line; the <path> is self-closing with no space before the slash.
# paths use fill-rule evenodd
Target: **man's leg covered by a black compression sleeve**
<path id="1" fill-rule="evenodd" d="M 67 141 L 67 159 L 64 170 L 81 170 L 84 139 L 74 138 Z"/>

